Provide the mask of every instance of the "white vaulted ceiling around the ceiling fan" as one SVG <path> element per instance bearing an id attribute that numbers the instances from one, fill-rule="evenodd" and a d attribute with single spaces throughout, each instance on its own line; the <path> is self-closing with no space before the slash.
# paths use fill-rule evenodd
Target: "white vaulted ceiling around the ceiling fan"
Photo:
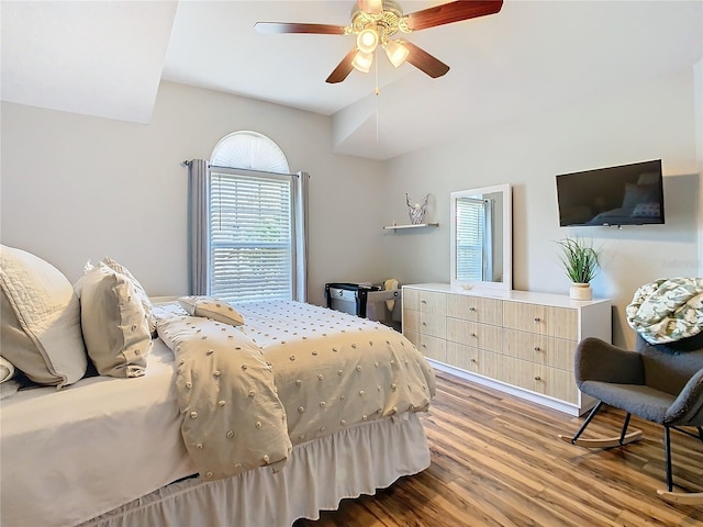
<path id="1" fill-rule="evenodd" d="M 445 1 L 399 0 L 405 13 Z M 333 119 L 335 152 L 388 159 L 467 131 L 626 89 L 703 57 L 703 1 L 505 0 L 500 13 L 408 36 L 451 69 L 431 79 L 379 56 L 378 79 L 325 79 L 354 0 L 12 1 L 0 22 L 2 100 L 148 123 L 160 79 Z M 376 83 L 379 96 L 373 94 Z M 377 120 L 378 117 L 378 120 Z"/>

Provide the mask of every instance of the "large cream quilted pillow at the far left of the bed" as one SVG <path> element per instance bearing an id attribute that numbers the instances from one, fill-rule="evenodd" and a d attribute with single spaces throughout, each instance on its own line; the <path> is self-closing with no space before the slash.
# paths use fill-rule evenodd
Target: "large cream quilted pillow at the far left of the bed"
<path id="1" fill-rule="evenodd" d="M 0 245 L 2 356 L 37 384 L 62 388 L 86 373 L 80 303 L 49 262 Z"/>

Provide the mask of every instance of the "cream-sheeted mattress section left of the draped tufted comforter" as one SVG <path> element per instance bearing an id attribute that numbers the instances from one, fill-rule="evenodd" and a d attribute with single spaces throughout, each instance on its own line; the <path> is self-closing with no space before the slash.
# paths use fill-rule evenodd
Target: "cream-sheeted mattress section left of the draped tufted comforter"
<path id="1" fill-rule="evenodd" d="M 174 370 L 157 338 L 145 377 L 85 378 L 2 400 L 1 525 L 75 525 L 193 474 Z"/>

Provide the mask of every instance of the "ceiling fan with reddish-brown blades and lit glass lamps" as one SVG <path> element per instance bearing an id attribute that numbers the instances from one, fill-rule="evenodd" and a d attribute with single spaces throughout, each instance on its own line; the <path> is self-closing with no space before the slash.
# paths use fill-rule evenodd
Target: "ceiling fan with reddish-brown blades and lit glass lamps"
<path id="1" fill-rule="evenodd" d="M 412 33 L 487 14 L 498 13 L 503 0 L 459 0 L 403 14 L 394 0 L 357 0 L 349 25 L 306 24 L 295 22 L 257 22 L 259 33 L 312 33 L 322 35 L 356 35 L 356 47 L 342 59 L 327 77 L 327 82 L 342 82 L 353 69 L 368 72 L 373 52 L 381 46 L 394 67 L 408 61 L 432 78 L 442 77 L 449 66 L 397 33 Z"/>

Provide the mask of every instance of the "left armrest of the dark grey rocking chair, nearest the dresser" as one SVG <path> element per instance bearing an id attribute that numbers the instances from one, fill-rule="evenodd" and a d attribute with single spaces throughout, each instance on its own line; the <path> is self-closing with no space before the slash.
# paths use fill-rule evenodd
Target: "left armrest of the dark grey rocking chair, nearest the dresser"
<path id="1" fill-rule="evenodd" d="M 583 381 L 644 384 L 645 367 L 637 351 L 587 337 L 576 347 L 574 375 L 579 388 Z"/>

